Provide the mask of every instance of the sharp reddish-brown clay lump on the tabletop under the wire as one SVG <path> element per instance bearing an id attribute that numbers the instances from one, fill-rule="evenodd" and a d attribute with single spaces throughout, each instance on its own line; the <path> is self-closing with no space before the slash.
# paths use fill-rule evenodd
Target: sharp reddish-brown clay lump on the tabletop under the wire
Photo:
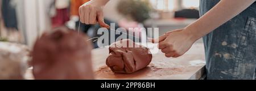
<path id="1" fill-rule="evenodd" d="M 131 40 L 121 40 L 109 47 L 106 64 L 115 73 L 133 73 L 147 67 L 152 54 L 147 47 Z"/>

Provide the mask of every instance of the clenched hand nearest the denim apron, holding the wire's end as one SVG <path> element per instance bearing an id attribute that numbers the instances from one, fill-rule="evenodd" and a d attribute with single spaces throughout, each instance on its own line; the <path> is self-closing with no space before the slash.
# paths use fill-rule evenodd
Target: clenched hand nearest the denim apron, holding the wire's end
<path id="1" fill-rule="evenodd" d="M 186 29 L 177 29 L 167 32 L 159 38 L 152 39 L 153 43 L 159 43 L 158 47 L 166 54 L 166 57 L 177 58 L 185 54 L 197 40 L 196 34 L 190 33 Z"/>

